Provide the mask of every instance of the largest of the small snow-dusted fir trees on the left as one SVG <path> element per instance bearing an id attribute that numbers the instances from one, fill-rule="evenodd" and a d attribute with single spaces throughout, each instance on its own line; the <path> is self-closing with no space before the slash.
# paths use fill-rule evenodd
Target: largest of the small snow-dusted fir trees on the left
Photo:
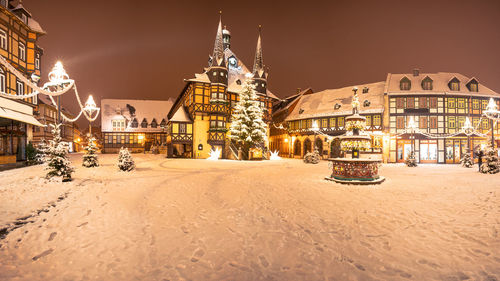
<path id="1" fill-rule="evenodd" d="M 47 175 L 48 179 L 51 178 L 61 178 L 62 181 L 70 181 L 71 174 L 75 169 L 71 166 L 71 162 L 68 160 L 68 143 L 63 142 L 61 138 L 61 127 L 62 124 L 51 125 L 52 128 L 52 140 L 49 142 L 49 147 L 47 149 Z"/>

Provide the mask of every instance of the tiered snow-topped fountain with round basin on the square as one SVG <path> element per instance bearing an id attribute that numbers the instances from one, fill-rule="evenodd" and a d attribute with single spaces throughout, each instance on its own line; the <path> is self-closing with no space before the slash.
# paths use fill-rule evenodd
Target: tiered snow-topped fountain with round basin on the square
<path id="1" fill-rule="evenodd" d="M 326 177 L 342 184 L 376 184 L 385 180 L 378 175 L 381 160 L 360 159 L 359 152 L 371 148 L 371 138 L 363 134 L 366 118 L 359 115 L 358 88 L 354 88 L 352 98 L 352 115 L 346 117 L 346 134 L 340 137 L 342 151 L 352 152 L 352 158 L 330 158 L 332 174 Z"/>

